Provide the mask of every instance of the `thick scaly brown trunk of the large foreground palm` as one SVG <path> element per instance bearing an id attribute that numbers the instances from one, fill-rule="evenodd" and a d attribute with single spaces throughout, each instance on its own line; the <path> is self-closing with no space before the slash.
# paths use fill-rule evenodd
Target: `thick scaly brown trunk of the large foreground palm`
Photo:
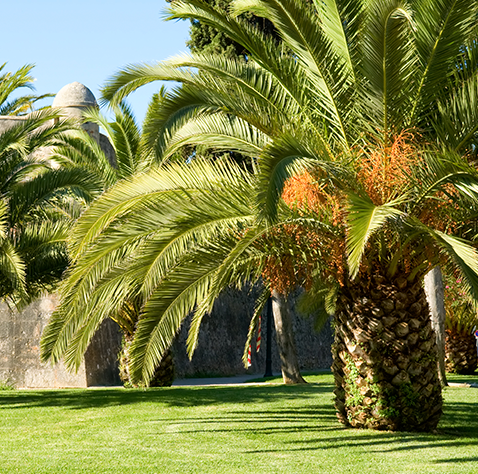
<path id="1" fill-rule="evenodd" d="M 431 431 L 442 413 L 437 348 L 422 282 L 348 282 L 336 314 L 335 406 L 355 428 Z"/>

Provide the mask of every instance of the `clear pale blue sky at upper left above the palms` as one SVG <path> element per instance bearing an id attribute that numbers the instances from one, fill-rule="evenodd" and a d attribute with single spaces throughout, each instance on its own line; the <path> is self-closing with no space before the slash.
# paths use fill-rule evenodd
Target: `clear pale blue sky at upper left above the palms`
<path id="1" fill-rule="evenodd" d="M 189 22 L 164 21 L 167 6 L 165 0 L 2 0 L 0 64 L 7 63 L 4 72 L 36 64 L 38 94 L 78 81 L 99 99 L 99 88 L 122 67 L 187 51 Z M 139 122 L 159 86 L 130 96 Z"/>

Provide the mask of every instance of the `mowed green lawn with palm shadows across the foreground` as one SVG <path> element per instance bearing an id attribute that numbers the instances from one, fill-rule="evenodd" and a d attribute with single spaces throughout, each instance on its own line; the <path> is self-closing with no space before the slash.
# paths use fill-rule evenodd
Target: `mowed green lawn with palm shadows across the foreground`
<path id="1" fill-rule="evenodd" d="M 309 385 L 0 392 L 0 473 L 478 473 L 478 389 L 435 434 L 345 429 Z M 453 381 L 473 381 L 460 377 Z"/>

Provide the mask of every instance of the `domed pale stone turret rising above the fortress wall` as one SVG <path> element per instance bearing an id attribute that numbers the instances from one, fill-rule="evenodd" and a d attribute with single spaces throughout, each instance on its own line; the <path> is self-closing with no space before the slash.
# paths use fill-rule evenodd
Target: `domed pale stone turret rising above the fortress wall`
<path id="1" fill-rule="evenodd" d="M 91 108 L 98 108 L 95 96 L 79 82 L 72 82 L 62 87 L 55 96 L 52 104 L 53 108 L 61 110 L 61 114 L 65 117 L 81 119 L 84 112 Z M 99 126 L 92 122 L 85 122 L 82 128 L 93 137 L 97 143 L 100 142 Z"/>

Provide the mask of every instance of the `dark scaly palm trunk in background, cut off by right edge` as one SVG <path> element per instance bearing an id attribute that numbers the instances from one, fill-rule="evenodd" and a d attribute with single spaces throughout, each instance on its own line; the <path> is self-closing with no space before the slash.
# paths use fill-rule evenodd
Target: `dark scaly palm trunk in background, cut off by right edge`
<path id="1" fill-rule="evenodd" d="M 473 334 L 446 330 L 445 365 L 447 372 L 473 374 L 478 366 L 476 339 Z"/>

